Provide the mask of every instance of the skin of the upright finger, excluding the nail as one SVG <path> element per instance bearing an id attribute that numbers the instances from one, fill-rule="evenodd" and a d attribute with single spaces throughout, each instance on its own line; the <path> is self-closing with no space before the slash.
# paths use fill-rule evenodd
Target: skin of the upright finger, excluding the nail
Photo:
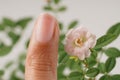
<path id="1" fill-rule="evenodd" d="M 46 18 L 52 17 L 49 14 L 45 15 Z M 36 40 L 36 29 L 38 28 L 37 24 L 39 24 L 40 18 L 41 16 L 35 23 L 28 48 L 25 80 L 57 80 L 58 22 L 54 18 L 55 23 L 52 38 L 47 42 L 40 42 Z M 42 24 L 47 24 L 47 22 Z"/>

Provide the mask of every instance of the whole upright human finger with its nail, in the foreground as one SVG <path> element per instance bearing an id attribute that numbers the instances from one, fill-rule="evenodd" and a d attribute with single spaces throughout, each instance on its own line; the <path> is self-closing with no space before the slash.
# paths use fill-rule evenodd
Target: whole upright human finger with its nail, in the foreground
<path id="1" fill-rule="evenodd" d="M 58 23 L 45 13 L 38 18 L 26 58 L 25 80 L 57 80 Z"/>

